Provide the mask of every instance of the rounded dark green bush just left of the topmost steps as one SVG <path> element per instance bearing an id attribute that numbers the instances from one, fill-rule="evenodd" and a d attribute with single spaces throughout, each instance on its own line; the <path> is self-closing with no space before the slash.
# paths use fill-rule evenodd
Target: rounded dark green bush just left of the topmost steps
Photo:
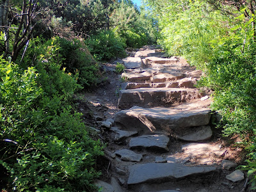
<path id="1" fill-rule="evenodd" d="M 85 44 L 94 58 L 99 61 L 125 56 L 125 44 L 113 31 L 102 31 L 98 35 L 92 35 Z"/>

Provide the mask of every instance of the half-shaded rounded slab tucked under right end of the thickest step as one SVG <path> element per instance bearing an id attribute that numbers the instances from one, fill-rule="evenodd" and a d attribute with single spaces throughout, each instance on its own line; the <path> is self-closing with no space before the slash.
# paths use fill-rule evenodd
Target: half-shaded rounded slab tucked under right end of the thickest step
<path id="1" fill-rule="evenodd" d="M 177 131 L 176 138 L 183 141 L 202 141 L 209 140 L 212 136 L 210 126 L 186 127 Z"/>

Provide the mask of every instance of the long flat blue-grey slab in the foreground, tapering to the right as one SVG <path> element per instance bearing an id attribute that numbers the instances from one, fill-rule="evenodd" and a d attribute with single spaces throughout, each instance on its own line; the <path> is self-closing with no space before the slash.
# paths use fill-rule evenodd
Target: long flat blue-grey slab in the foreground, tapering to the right
<path id="1" fill-rule="evenodd" d="M 191 167 L 178 163 L 134 164 L 129 168 L 130 175 L 127 184 L 164 182 L 194 174 L 205 174 L 215 170 L 215 167 Z"/>

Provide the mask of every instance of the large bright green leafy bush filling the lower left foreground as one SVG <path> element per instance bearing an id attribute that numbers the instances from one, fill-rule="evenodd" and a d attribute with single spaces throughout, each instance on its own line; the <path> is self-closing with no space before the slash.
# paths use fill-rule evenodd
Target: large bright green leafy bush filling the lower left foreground
<path id="1" fill-rule="evenodd" d="M 46 58 L 47 57 L 47 58 Z M 93 191 L 99 141 L 72 108 L 79 86 L 51 44 L 35 67 L 0 59 L 0 163 L 14 191 Z M 1 168 L 3 170 L 3 168 Z"/>

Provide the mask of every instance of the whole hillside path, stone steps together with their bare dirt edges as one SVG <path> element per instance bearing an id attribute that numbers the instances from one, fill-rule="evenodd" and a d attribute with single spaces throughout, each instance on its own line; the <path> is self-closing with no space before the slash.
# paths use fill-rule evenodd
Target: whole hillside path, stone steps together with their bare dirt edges
<path id="1" fill-rule="evenodd" d="M 116 192 L 242 191 L 246 174 L 235 169 L 241 149 L 214 129 L 211 90 L 195 87 L 202 72 L 159 47 L 128 53 L 102 65 L 106 84 L 78 106 L 106 143 L 95 183 Z M 122 75 L 117 62 L 125 65 Z"/>

